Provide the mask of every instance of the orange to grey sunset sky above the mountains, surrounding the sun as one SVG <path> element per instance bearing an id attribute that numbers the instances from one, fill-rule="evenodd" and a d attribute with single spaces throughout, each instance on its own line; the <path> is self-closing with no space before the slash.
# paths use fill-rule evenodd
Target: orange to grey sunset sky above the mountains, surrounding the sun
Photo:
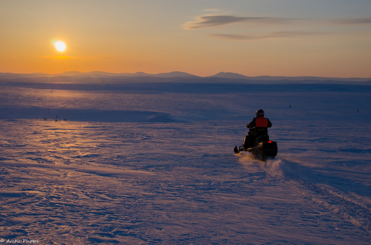
<path id="1" fill-rule="evenodd" d="M 0 72 L 371 77 L 370 10 L 370 0 L 0 0 Z"/>

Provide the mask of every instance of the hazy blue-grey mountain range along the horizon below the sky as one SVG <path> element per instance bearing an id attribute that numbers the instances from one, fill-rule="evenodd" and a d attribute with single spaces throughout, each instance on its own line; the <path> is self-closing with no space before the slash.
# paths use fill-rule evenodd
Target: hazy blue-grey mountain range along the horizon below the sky
<path id="1" fill-rule="evenodd" d="M 64 73 L 59 74 L 46 74 L 46 73 L 28 73 L 28 74 L 19 74 L 19 73 L 0 73 L 0 80 L 16 80 L 20 81 L 22 78 L 48 78 L 48 81 L 56 81 L 61 80 L 62 77 L 65 78 L 66 81 L 72 81 L 73 78 L 102 78 L 104 81 L 109 81 L 112 79 L 124 79 L 124 78 L 137 78 L 136 81 L 139 81 L 140 78 L 145 78 L 145 81 L 148 81 L 150 78 L 166 78 L 166 81 L 174 81 L 176 79 L 184 81 L 184 79 L 197 79 L 197 80 L 204 80 L 204 81 L 223 81 L 226 80 L 228 82 L 231 81 L 238 81 L 238 82 L 252 82 L 252 81 L 265 81 L 275 83 L 278 81 L 304 81 L 309 83 L 309 81 L 344 81 L 344 82 L 365 82 L 371 81 L 371 78 L 359 78 L 359 77 L 352 77 L 352 78 L 341 78 L 341 77 L 284 77 L 284 76 L 258 76 L 258 77 L 247 77 L 245 75 L 241 75 L 238 73 L 231 73 L 231 72 L 220 72 L 215 75 L 207 76 L 207 77 L 199 77 L 193 74 L 180 72 L 180 71 L 173 71 L 170 73 L 158 73 L 158 74 L 150 74 L 144 72 L 137 72 L 137 73 L 109 73 L 103 71 L 91 71 L 91 72 L 80 72 L 80 71 L 66 71 Z M 58 79 L 56 79 L 58 78 Z M 106 79 L 104 79 L 106 78 Z M 111 79 L 110 79 L 111 78 Z M 36 79 L 33 79 L 36 80 Z M 46 81 L 47 79 L 41 79 Z M 79 80 L 79 79 L 77 79 Z M 86 79 L 85 79 L 86 80 Z M 160 81 L 159 79 L 155 79 L 156 81 Z"/>

